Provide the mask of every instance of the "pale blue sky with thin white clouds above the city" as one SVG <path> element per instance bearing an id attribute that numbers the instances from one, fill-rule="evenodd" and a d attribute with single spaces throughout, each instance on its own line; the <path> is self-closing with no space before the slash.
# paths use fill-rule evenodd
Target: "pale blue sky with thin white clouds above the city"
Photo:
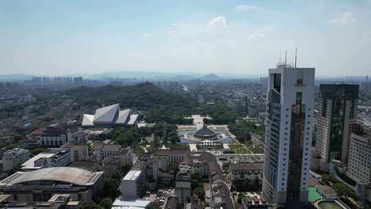
<path id="1" fill-rule="evenodd" d="M 371 0 L 0 0 L 0 74 L 371 74 Z"/>

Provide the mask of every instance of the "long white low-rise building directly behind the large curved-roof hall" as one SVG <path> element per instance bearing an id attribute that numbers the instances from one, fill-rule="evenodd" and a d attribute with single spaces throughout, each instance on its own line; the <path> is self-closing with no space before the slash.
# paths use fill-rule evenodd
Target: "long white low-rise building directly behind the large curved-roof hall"
<path id="1" fill-rule="evenodd" d="M 49 151 L 38 153 L 21 165 L 21 170 L 30 171 L 40 168 L 63 167 L 72 162 L 71 151 L 65 148 L 50 148 Z"/>

